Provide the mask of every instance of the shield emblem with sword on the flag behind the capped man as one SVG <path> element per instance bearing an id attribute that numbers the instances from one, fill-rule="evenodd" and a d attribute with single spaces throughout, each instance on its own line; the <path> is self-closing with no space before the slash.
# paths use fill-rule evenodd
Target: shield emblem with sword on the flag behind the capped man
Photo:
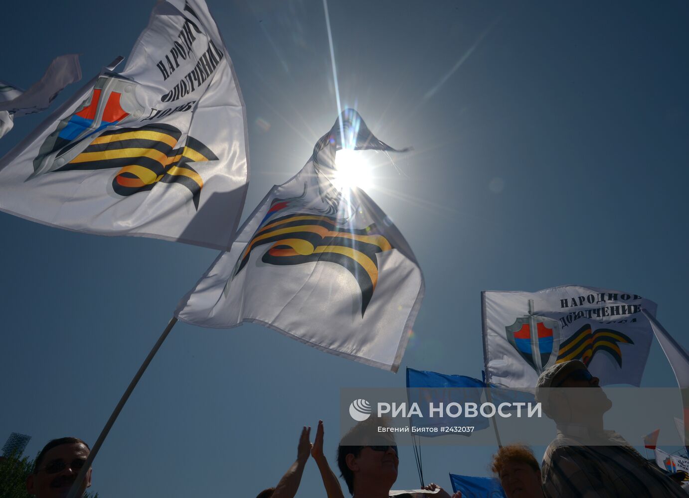
<path id="1" fill-rule="evenodd" d="M 505 332 L 510 344 L 536 371 L 546 369 L 557 359 L 553 354 L 557 321 L 544 316 L 521 316 L 506 326 Z"/>

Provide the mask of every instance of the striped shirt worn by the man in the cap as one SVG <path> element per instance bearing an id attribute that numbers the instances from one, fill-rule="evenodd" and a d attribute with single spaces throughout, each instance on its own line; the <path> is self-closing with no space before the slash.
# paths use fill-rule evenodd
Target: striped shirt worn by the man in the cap
<path id="1" fill-rule="evenodd" d="M 557 437 L 543 455 L 546 498 L 678 497 L 679 484 L 648 462 L 621 435 L 595 435 L 610 446 L 582 446 L 592 436 L 583 426 L 558 424 Z"/>

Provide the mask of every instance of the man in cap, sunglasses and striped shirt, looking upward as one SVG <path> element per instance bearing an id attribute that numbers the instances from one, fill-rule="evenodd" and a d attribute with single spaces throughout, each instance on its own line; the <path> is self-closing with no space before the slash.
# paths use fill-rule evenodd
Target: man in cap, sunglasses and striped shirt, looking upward
<path id="1" fill-rule="evenodd" d="M 546 369 L 536 398 L 557 424 L 557 437 L 543 457 L 546 497 L 686 498 L 623 437 L 603 429 L 603 415 L 613 404 L 584 363 L 570 360 Z"/>

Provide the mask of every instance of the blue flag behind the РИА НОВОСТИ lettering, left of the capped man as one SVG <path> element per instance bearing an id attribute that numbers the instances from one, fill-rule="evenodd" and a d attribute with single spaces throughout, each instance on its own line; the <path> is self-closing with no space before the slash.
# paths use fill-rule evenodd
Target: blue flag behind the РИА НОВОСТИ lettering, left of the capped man
<path id="1" fill-rule="evenodd" d="M 464 413 L 459 417 L 452 418 L 448 416 L 438 416 L 435 414 L 431 417 L 429 413 L 429 403 L 433 403 L 434 407 L 438 407 L 440 403 L 446 406 L 451 402 L 457 402 L 464 406 L 464 403 L 473 402 L 480 406 L 482 403 L 482 389 L 484 383 L 481 380 L 466 377 L 466 376 L 452 376 L 445 374 L 438 374 L 433 371 L 422 371 L 407 368 L 407 397 L 409 404 L 417 403 L 423 417 L 411 415 L 409 424 L 412 427 L 435 427 L 438 432 L 418 433 L 429 437 L 443 435 L 446 431 L 440 431 L 440 428 L 446 427 L 467 427 L 472 426 L 473 431 L 480 431 L 489 427 L 489 421 L 482 416 L 465 417 Z M 445 411 L 443 411 L 443 414 Z M 451 433 L 462 434 L 465 436 L 471 435 L 471 432 L 456 432 Z"/>

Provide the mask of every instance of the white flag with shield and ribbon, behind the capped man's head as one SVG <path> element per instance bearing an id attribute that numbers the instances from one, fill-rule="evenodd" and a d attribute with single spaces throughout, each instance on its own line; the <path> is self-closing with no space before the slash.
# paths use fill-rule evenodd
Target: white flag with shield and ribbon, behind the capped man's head
<path id="1" fill-rule="evenodd" d="M 582 360 L 601 385 L 638 386 L 652 330 L 636 294 L 579 285 L 539 292 L 482 292 L 486 383 L 533 388 L 539 373 Z"/>

